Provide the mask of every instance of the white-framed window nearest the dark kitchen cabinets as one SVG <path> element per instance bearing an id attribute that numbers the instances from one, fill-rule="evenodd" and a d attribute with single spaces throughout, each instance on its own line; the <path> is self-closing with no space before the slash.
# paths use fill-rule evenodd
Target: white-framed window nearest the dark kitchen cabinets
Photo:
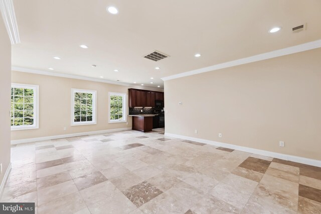
<path id="1" fill-rule="evenodd" d="M 126 94 L 109 92 L 109 123 L 126 122 Z"/>

